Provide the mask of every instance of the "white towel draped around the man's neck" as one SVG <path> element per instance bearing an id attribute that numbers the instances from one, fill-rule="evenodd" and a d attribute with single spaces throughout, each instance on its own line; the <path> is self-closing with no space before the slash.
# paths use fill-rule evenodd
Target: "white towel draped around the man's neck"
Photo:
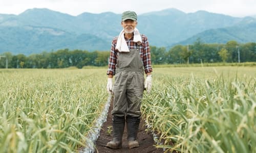
<path id="1" fill-rule="evenodd" d="M 133 41 L 142 42 L 139 30 L 137 28 L 134 29 Z M 118 49 L 119 52 L 127 52 L 127 53 L 130 52 L 127 46 L 126 40 L 124 38 L 124 30 L 122 30 L 118 36 L 118 39 L 116 42 L 116 49 Z"/>

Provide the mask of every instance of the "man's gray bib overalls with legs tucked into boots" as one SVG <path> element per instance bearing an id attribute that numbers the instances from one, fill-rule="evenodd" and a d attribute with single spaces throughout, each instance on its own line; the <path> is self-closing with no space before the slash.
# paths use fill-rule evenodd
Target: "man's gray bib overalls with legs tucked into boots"
<path id="1" fill-rule="evenodd" d="M 112 115 L 140 117 L 140 104 L 144 90 L 144 69 L 139 45 L 129 53 L 119 53 L 114 84 Z"/>

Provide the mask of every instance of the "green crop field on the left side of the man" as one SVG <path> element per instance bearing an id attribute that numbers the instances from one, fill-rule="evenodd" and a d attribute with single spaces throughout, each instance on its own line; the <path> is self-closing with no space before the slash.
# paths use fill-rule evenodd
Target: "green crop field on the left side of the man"
<path id="1" fill-rule="evenodd" d="M 0 70 L 0 152 L 72 152 L 108 99 L 106 70 Z"/>

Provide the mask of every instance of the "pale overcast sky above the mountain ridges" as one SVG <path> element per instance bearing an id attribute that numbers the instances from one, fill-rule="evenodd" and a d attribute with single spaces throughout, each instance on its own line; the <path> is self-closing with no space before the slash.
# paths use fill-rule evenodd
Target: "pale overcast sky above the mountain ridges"
<path id="1" fill-rule="evenodd" d="M 185 13 L 204 10 L 235 17 L 256 15 L 255 0 L 0 0 L 0 14 L 20 14 L 27 9 L 48 8 L 73 16 L 83 12 L 134 10 L 137 14 L 176 8 Z"/>

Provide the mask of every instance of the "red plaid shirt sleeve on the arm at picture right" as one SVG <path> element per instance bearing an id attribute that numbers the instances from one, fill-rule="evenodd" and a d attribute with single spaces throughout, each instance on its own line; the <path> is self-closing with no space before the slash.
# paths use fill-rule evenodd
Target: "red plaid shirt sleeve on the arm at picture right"
<path id="1" fill-rule="evenodd" d="M 150 45 L 148 44 L 148 40 L 145 35 L 142 35 L 142 43 L 144 43 L 143 56 L 142 56 L 144 71 L 145 73 L 152 72 Z"/>

